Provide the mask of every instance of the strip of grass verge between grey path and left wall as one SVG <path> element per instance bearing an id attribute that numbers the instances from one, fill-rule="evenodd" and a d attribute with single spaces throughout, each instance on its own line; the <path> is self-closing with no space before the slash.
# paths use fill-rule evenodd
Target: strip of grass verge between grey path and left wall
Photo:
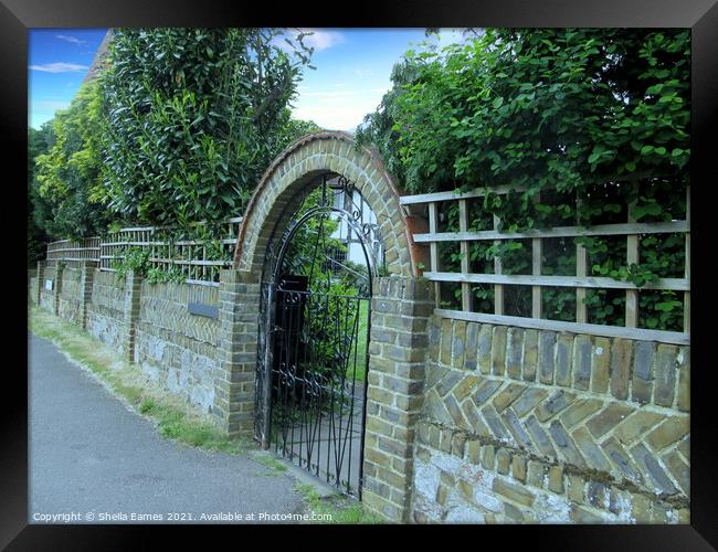
<path id="1" fill-rule="evenodd" d="M 94 373 L 125 404 L 152 420 L 163 437 L 209 452 L 243 454 L 253 448 L 249 440 L 230 439 L 212 418 L 200 414 L 183 400 L 159 388 L 129 362 L 117 360 L 117 352 L 83 330 L 33 307 L 30 330 L 57 346 L 73 362 Z"/>

